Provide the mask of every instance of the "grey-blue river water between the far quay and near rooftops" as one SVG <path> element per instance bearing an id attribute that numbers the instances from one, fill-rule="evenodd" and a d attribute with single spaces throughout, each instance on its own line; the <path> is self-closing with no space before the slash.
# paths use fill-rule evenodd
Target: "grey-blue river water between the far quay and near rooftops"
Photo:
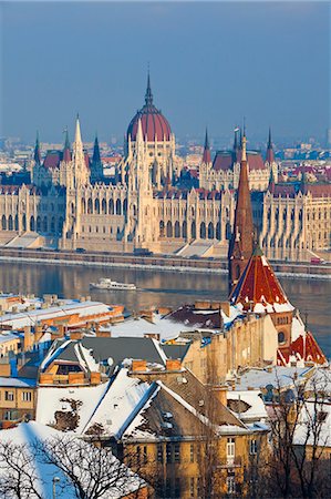
<path id="1" fill-rule="evenodd" d="M 90 283 L 100 277 L 135 283 L 138 291 L 90 289 Z M 288 298 L 301 310 L 302 318 L 307 317 L 310 330 L 330 358 L 331 281 L 294 277 L 282 277 L 280 281 Z M 227 298 L 227 285 L 226 274 L 0 263 L 0 289 L 3 292 L 35 296 L 54 293 L 65 298 L 91 296 L 107 304 L 123 304 L 128 310 L 151 306 L 177 307 L 200 298 L 224 301 Z"/>

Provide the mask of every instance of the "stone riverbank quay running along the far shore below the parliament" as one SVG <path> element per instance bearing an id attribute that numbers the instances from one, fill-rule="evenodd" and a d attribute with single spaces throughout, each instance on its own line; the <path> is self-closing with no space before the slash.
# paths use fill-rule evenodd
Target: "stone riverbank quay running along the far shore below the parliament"
<path id="1" fill-rule="evenodd" d="M 189 272 L 226 274 L 227 259 L 183 258 L 163 255 L 133 255 L 117 253 L 79 253 L 49 249 L 1 248 L 0 262 L 27 262 L 35 264 L 61 264 L 96 267 L 157 269 L 165 272 Z M 308 263 L 272 262 L 277 275 L 283 277 L 330 279 L 331 264 L 312 265 Z"/>

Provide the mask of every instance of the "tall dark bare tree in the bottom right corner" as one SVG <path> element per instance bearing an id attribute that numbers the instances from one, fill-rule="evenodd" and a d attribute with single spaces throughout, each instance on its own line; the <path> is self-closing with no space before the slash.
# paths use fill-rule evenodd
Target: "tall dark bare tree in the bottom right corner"
<path id="1" fill-rule="evenodd" d="M 266 477 L 267 497 L 325 497 L 325 447 L 331 437 L 324 430 L 324 408 L 330 405 L 330 370 L 322 373 L 323 381 L 314 376 L 303 381 L 293 376 L 292 389 L 288 390 L 277 380 L 269 405 L 272 455 Z"/>

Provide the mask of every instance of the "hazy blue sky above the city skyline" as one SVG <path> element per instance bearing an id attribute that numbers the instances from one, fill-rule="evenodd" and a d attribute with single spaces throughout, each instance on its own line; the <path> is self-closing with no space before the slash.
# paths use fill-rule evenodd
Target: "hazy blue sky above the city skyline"
<path id="1" fill-rule="evenodd" d="M 0 135 L 123 136 L 154 102 L 178 136 L 322 136 L 329 126 L 328 2 L 2 2 Z"/>

